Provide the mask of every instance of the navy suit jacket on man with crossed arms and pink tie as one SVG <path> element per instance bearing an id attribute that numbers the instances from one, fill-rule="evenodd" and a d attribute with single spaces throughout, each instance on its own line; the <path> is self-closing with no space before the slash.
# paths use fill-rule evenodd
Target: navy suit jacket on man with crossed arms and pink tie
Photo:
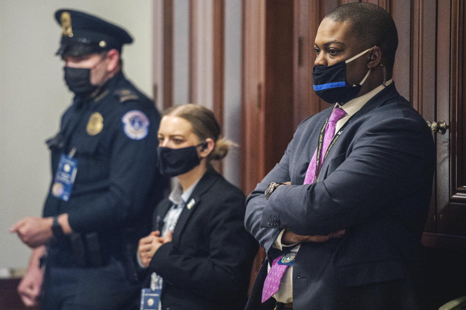
<path id="1" fill-rule="evenodd" d="M 293 309 L 418 309 L 416 251 L 431 198 L 435 151 L 426 122 L 394 83 L 341 129 L 318 181 L 303 185 L 333 107 L 304 120 L 278 163 L 250 194 L 245 224 L 266 248 L 282 229 L 341 239 L 302 243 L 293 265 Z M 264 199 L 270 182 L 291 181 Z M 271 221 L 270 218 L 274 220 Z M 261 305 L 266 264 L 247 309 Z"/>

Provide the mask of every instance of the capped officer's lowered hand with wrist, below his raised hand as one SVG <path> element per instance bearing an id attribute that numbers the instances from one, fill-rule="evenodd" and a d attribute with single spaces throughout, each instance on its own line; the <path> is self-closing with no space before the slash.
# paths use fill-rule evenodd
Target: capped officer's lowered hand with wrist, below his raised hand
<path id="1" fill-rule="evenodd" d="M 44 273 L 39 267 L 39 259 L 45 254 L 45 247 L 37 247 L 33 250 L 29 267 L 19 282 L 17 291 L 24 305 L 27 307 L 37 306 L 37 297 L 42 287 Z"/>

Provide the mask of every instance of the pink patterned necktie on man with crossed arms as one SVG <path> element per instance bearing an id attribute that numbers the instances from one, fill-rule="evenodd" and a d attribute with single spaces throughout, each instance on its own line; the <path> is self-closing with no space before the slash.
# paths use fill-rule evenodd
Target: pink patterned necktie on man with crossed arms
<path id="1" fill-rule="evenodd" d="M 317 173 L 322 168 L 322 158 L 329 148 L 330 142 L 335 135 L 335 125 L 341 118 L 346 115 L 346 112 L 343 109 L 336 108 L 333 110 L 332 114 L 329 117 L 327 126 L 325 127 L 324 132 L 324 141 L 322 143 L 321 155 L 319 158 L 319 168 Z M 309 167 L 306 171 L 306 176 L 304 178 L 304 184 L 311 184 L 314 182 L 316 177 L 316 161 L 317 161 L 317 149 L 312 156 Z M 266 280 L 264 281 L 264 288 L 262 290 L 262 302 L 265 302 L 267 299 L 272 297 L 273 294 L 277 293 L 280 288 L 280 281 L 282 280 L 283 273 L 285 272 L 288 265 L 281 265 L 277 262 L 282 259 L 284 255 L 277 257 L 273 260 L 270 270 L 268 271 Z"/>

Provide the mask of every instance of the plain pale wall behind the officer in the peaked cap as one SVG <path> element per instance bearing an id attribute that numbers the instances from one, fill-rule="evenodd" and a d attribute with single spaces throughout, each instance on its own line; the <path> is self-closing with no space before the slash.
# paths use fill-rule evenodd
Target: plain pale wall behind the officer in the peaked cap
<path id="1" fill-rule="evenodd" d="M 137 4 L 137 5 L 136 5 Z M 152 96 L 152 0 L 0 0 L 0 267 L 26 266 L 30 250 L 8 229 L 40 216 L 50 182 L 44 141 L 58 131 L 72 94 L 54 56 L 59 8 L 87 11 L 127 29 L 124 72 Z"/>

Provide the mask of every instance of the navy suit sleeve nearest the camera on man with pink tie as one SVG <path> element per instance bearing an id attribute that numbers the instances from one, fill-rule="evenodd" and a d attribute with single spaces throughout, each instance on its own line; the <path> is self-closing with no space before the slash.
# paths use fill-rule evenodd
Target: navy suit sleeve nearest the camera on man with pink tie
<path id="1" fill-rule="evenodd" d="M 326 235 L 388 213 L 410 227 L 410 221 L 426 213 L 428 202 L 409 210 L 397 210 L 399 206 L 392 202 L 424 195 L 432 182 L 433 150 L 432 136 L 420 117 L 376 120 L 353 138 L 341 154 L 341 164 L 323 181 L 280 186 L 263 203 L 261 224 L 271 227 L 267 218 L 276 215 L 279 228 L 300 235 Z M 258 226 L 255 223 L 254 228 Z"/>

